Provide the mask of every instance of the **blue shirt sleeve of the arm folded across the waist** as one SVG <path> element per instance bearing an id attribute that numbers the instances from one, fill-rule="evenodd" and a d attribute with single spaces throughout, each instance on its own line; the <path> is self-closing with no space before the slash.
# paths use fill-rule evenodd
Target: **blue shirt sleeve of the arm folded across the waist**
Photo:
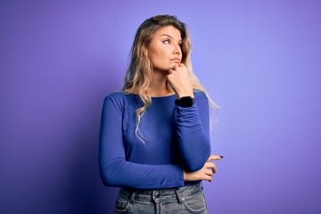
<path id="1" fill-rule="evenodd" d="M 147 165 L 126 161 L 122 140 L 122 108 L 109 96 L 103 102 L 99 141 L 99 168 L 103 184 L 137 189 L 184 186 L 183 169 L 178 165 Z"/>

